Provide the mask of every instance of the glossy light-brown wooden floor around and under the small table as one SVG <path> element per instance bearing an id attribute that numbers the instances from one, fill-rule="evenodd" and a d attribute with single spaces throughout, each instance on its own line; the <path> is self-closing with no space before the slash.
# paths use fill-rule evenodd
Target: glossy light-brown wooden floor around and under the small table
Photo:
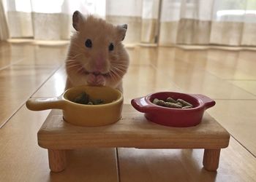
<path id="1" fill-rule="evenodd" d="M 85 149 L 67 152 L 50 173 L 37 131 L 49 111 L 29 111 L 31 96 L 61 95 L 66 46 L 0 43 L 0 181 L 256 181 L 256 52 L 129 48 L 125 103 L 163 90 L 216 100 L 208 113 L 232 137 L 217 173 L 203 169 L 202 149 Z M 118 155 L 117 155 L 118 154 Z"/>

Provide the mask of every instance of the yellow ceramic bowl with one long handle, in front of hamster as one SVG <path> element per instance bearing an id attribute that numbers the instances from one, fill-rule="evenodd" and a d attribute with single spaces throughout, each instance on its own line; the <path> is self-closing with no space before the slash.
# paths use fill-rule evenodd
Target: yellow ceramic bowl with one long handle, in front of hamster
<path id="1" fill-rule="evenodd" d="M 83 105 L 74 103 L 81 92 L 86 92 L 92 99 L 105 101 L 101 105 Z M 117 122 L 121 118 L 124 98 L 121 92 L 110 87 L 79 86 L 64 92 L 58 98 L 30 98 L 26 102 L 32 111 L 59 108 L 63 111 L 64 120 L 70 124 L 84 127 L 103 126 Z"/>

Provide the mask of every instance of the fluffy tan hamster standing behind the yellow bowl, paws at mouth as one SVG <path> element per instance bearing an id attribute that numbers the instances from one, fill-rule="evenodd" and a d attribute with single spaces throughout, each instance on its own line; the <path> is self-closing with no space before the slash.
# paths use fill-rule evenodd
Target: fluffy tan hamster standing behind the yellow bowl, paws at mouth
<path id="1" fill-rule="evenodd" d="M 121 41 L 127 25 L 112 25 L 101 18 L 72 15 L 72 35 L 65 61 L 65 90 L 78 85 L 113 87 L 123 92 L 122 78 L 127 73 L 129 55 Z"/>

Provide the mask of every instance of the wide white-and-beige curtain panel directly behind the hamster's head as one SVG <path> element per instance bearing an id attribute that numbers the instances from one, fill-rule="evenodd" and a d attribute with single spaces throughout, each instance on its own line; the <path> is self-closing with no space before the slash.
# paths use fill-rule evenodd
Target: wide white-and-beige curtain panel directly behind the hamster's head
<path id="1" fill-rule="evenodd" d="M 8 0 L 12 38 L 69 39 L 72 13 L 95 14 L 115 25 L 128 24 L 127 44 L 155 42 L 159 0 Z M 142 33 L 145 31 L 146 33 Z"/>

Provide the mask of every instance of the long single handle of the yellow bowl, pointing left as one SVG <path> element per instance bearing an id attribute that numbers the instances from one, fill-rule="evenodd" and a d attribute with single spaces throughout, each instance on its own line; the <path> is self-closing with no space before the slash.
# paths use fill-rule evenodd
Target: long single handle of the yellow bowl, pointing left
<path id="1" fill-rule="evenodd" d="M 66 101 L 58 98 L 29 98 L 26 101 L 26 107 L 31 111 L 42 111 L 51 108 L 64 109 Z"/>

